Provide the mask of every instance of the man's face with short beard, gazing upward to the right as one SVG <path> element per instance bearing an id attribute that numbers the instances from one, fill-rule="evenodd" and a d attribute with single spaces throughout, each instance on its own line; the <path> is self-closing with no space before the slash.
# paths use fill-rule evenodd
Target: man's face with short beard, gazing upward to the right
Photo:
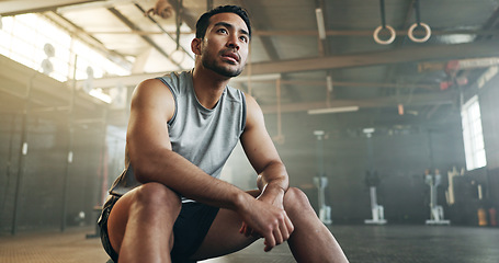
<path id="1" fill-rule="evenodd" d="M 218 13 L 209 22 L 201 47 L 203 67 L 228 78 L 240 75 L 249 45 L 245 21 L 235 13 Z"/>

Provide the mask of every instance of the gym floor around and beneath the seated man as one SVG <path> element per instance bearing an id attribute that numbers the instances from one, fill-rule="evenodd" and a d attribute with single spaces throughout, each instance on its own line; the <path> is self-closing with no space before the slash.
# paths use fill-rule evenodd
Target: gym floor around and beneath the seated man
<path id="1" fill-rule="evenodd" d="M 352 263 L 497 263 L 499 228 L 460 226 L 342 226 L 331 228 Z M 105 263 L 100 239 L 87 239 L 91 228 L 65 232 L 21 232 L 0 236 L 2 263 Z M 264 253 L 257 241 L 237 253 L 203 263 L 295 262 L 287 245 Z"/>

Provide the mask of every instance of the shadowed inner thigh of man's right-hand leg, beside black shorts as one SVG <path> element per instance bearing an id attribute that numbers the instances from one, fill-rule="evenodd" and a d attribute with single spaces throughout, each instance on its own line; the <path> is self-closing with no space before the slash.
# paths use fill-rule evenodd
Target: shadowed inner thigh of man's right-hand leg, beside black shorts
<path id="1" fill-rule="evenodd" d="M 249 191 L 248 193 L 258 196 L 260 192 Z M 250 245 L 259 239 L 240 233 L 239 229 L 241 226 L 242 220 L 237 213 L 229 209 L 220 209 L 200 249 L 192 258 L 205 260 L 229 254 Z"/>

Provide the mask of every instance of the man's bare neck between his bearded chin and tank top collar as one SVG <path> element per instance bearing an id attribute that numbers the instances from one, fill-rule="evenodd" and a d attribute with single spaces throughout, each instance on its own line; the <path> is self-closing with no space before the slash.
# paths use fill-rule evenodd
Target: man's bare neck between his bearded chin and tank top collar
<path id="1" fill-rule="evenodd" d="M 224 93 L 230 78 L 222 77 L 212 70 L 194 68 L 192 82 L 197 101 L 206 108 L 213 108 Z"/>

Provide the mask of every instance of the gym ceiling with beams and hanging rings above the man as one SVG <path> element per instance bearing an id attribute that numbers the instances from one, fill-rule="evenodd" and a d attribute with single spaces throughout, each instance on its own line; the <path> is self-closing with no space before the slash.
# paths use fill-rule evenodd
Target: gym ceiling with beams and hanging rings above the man
<path id="1" fill-rule="evenodd" d="M 460 93 L 487 82 L 499 62 L 497 0 L 165 2 L 166 19 L 145 15 L 155 0 L 0 1 L 0 14 L 43 14 L 132 69 L 128 77 L 94 79 L 95 87 L 133 89 L 190 69 L 196 19 L 209 7 L 241 5 L 253 38 L 249 65 L 233 82 L 265 114 L 336 108 L 387 125 L 431 119 L 458 108 Z M 115 125 L 126 125 L 124 112 L 111 113 Z"/>

